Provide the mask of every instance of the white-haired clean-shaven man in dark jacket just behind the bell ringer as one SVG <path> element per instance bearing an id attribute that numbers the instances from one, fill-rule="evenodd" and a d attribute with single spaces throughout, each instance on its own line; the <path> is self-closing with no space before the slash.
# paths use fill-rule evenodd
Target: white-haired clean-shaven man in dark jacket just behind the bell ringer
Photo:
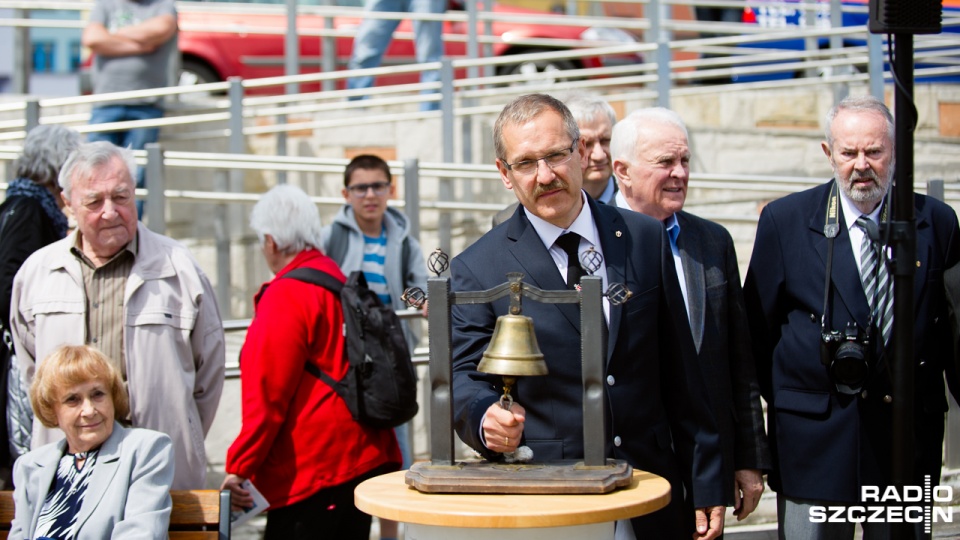
<path id="1" fill-rule="evenodd" d="M 721 225 L 682 211 L 690 180 L 687 128 L 677 113 L 641 109 L 617 123 L 610 144 L 620 183 L 615 204 L 663 223 L 720 429 L 723 486 L 738 520 L 763 493 L 770 450 L 750 350 L 733 238 Z"/>

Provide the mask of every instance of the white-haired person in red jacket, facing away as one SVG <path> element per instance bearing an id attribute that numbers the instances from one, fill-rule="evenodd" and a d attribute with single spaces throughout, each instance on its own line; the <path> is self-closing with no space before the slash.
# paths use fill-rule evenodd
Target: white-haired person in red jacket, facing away
<path id="1" fill-rule="evenodd" d="M 270 503 L 266 540 L 367 540 L 371 517 L 353 503 L 363 480 L 400 467 L 390 429 L 358 423 L 333 388 L 308 374 L 309 362 L 340 380 L 347 373 L 340 298 L 284 277 L 313 269 L 344 282 L 317 249 L 320 214 L 300 188 L 280 185 L 253 207 L 250 227 L 274 278 L 254 297 L 240 356 L 243 425 L 227 452 L 221 489 L 249 507 L 250 480 Z"/>

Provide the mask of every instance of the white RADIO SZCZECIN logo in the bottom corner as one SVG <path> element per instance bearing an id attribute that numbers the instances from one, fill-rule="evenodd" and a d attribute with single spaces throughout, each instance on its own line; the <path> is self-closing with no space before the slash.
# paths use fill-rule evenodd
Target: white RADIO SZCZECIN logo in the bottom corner
<path id="1" fill-rule="evenodd" d="M 931 486 L 930 475 L 923 487 L 861 486 L 861 505 L 811 506 L 812 523 L 923 523 L 931 532 L 933 523 L 953 523 L 953 508 L 934 506 L 953 501 L 952 486 Z M 871 504 L 874 503 L 874 504 Z"/>

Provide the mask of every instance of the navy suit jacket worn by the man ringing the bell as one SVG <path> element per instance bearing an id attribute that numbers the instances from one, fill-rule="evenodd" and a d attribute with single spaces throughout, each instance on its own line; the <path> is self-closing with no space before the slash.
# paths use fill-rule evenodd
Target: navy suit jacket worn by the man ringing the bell
<path id="1" fill-rule="evenodd" d="M 588 198 L 589 199 L 589 198 Z M 637 535 L 680 538 L 692 514 L 682 502 L 681 480 L 697 507 L 727 500 L 720 483 L 719 442 L 693 342 L 683 313 L 669 242 L 656 220 L 589 201 L 610 283 L 624 283 L 633 297 L 611 306 L 607 343 L 608 455 L 661 475 L 674 489 L 671 505 L 634 520 Z M 563 277 L 518 209 L 453 259 L 454 291 L 479 291 L 506 281 L 508 272 L 542 289 L 565 289 Z M 499 399 L 499 377 L 476 366 L 498 315 L 509 301 L 453 309 L 454 416 L 460 438 L 488 458 L 480 439 L 486 409 Z M 678 309 L 680 308 L 680 309 Z M 573 304 L 526 299 L 549 375 L 521 378 L 513 395 L 527 411 L 524 444 L 535 460 L 583 457 L 580 312 Z M 675 449 L 675 452 L 671 450 Z"/>

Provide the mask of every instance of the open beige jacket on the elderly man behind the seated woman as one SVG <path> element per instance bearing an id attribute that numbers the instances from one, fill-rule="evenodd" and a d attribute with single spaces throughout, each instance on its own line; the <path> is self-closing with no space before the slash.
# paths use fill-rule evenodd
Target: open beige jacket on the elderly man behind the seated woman
<path id="1" fill-rule="evenodd" d="M 173 440 L 173 489 L 205 488 L 204 437 L 223 390 L 224 336 L 206 275 L 185 247 L 138 224 L 137 258 L 124 294 L 123 331 L 134 427 Z M 70 253 L 76 232 L 31 255 L 13 282 L 10 327 L 24 383 L 37 358 L 85 342 L 83 277 Z M 34 421 L 32 448 L 60 430 Z"/>

